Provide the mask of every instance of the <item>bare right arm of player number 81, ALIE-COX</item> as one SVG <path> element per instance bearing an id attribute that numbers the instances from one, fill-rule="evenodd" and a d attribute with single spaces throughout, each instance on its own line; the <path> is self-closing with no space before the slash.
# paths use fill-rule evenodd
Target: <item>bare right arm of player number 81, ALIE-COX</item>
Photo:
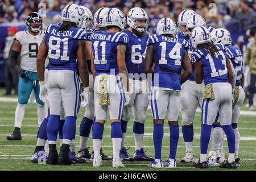
<path id="1" fill-rule="evenodd" d="M 77 63 L 82 86 L 87 87 L 89 86 L 89 70 L 85 55 L 85 40 L 79 40 L 79 47 L 77 49 Z"/>

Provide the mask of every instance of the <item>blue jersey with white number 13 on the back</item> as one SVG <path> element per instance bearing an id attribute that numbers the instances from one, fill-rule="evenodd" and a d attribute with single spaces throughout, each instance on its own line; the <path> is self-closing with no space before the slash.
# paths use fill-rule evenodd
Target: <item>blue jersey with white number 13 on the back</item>
<path id="1" fill-rule="evenodd" d="M 226 68 L 226 48 L 221 44 L 216 44 L 215 46 L 218 48 L 219 53 L 218 55 L 215 53 L 217 57 L 212 56 L 203 48 L 196 49 L 191 56 L 193 63 L 200 60 L 203 64 L 203 79 L 205 85 L 215 82 L 229 82 L 228 68 Z"/>

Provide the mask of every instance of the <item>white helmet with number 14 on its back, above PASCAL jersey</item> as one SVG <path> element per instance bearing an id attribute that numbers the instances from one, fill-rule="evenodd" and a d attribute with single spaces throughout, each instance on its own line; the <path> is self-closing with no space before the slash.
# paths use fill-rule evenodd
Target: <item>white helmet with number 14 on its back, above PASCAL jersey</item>
<path id="1" fill-rule="evenodd" d="M 171 34 L 176 35 L 176 24 L 171 18 L 162 18 L 156 26 L 156 34 Z"/>

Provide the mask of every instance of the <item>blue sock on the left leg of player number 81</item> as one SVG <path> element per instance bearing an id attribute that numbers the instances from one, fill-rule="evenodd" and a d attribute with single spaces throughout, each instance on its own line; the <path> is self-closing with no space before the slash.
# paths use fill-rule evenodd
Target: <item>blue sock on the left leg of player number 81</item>
<path id="1" fill-rule="evenodd" d="M 46 126 L 47 131 L 47 138 L 49 141 L 55 141 L 57 140 L 57 134 L 59 130 L 59 120 L 60 115 L 49 115 L 48 123 Z"/>

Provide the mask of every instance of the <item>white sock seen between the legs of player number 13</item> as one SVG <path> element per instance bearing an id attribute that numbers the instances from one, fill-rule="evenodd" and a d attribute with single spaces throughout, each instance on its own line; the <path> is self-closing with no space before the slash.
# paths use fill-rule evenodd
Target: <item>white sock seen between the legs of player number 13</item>
<path id="1" fill-rule="evenodd" d="M 211 150 L 215 151 L 217 154 L 221 150 L 222 140 L 224 138 L 224 132 L 221 127 L 214 127 L 212 130 L 212 148 Z"/>

